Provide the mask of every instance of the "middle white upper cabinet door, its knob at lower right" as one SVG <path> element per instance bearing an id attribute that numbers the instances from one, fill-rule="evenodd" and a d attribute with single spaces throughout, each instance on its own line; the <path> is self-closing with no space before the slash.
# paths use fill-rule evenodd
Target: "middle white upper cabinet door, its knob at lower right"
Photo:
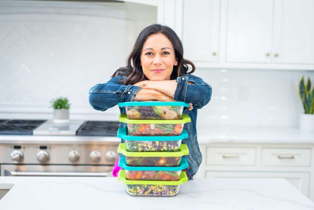
<path id="1" fill-rule="evenodd" d="M 268 63 L 273 0 L 229 0 L 226 62 Z"/>

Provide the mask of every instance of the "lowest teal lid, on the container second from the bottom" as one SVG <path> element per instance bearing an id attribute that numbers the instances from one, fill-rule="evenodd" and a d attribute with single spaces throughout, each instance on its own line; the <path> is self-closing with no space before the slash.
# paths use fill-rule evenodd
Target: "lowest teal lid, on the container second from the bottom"
<path id="1" fill-rule="evenodd" d="M 129 171 L 181 171 L 189 166 L 187 159 L 185 157 L 181 158 L 180 166 L 177 167 L 168 167 L 168 166 L 127 166 L 125 157 L 120 157 L 119 167 L 122 167 L 124 170 Z"/>

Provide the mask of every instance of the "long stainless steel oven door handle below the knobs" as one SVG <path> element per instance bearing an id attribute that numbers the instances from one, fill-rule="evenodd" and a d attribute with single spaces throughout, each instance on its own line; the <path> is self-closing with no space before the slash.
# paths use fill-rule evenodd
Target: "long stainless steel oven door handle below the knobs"
<path id="1" fill-rule="evenodd" d="M 72 177 L 107 177 L 108 173 L 81 172 L 16 172 L 4 170 L 4 176 L 72 176 Z"/>

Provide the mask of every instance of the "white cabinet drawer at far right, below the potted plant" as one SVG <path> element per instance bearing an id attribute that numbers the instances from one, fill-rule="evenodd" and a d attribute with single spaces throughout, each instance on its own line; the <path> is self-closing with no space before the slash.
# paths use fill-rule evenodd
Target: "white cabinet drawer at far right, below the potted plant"
<path id="1" fill-rule="evenodd" d="M 310 166 L 311 149 L 263 148 L 263 166 Z"/>

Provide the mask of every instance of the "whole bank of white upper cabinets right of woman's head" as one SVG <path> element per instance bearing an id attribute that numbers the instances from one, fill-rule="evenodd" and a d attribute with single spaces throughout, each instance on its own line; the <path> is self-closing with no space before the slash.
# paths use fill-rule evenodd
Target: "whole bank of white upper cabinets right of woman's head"
<path id="1" fill-rule="evenodd" d="M 160 0 L 197 68 L 314 70 L 313 0 Z"/>

